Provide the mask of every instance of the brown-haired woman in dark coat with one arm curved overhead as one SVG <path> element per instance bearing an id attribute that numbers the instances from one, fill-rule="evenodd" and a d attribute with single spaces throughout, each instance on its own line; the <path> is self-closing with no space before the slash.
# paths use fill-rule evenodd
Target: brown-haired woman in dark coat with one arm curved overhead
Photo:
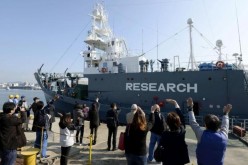
<path id="1" fill-rule="evenodd" d="M 159 146 L 164 148 L 163 165 L 184 165 L 189 163 L 188 148 L 185 142 L 185 122 L 183 114 L 175 100 L 166 99 L 175 106 L 176 112 L 167 114 L 169 129 L 164 131 Z"/>

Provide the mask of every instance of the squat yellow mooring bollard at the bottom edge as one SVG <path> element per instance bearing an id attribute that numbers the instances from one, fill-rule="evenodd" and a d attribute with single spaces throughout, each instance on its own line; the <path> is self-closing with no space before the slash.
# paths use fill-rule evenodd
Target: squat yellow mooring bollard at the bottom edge
<path id="1" fill-rule="evenodd" d="M 36 156 L 38 152 L 38 148 L 29 148 L 21 151 L 21 155 L 24 157 L 24 165 L 36 165 Z"/>

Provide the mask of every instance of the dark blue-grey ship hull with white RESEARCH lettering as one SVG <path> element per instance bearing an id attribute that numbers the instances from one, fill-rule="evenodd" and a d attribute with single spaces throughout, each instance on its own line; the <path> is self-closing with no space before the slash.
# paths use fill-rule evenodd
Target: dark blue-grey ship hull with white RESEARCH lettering
<path id="1" fill-rule="evenodd" d="M 52 99 L 56 93 L 42 85 L 38 74 L 35 77 L 46 100 Z M 166 114 L 174 109 L 165 102 L 166 98 L 171 98 L 177 100 L 186 112 L 186 99 L 192 97 L 196 115 L 222 115 L 223 106 L 231 103 L 231 116 L 248 118 L 248 92 L 241 70 L 91 74 L 85 77 L 89 80 L 88 99 L 61 96 L 55 103 L 57 111 L 71 112 L 76 103 L 90 106 L 97 96 L 101 103 L 102 121 L 110 104 L 115 102 L 121 108 L 120 121 L 125 123 L 126 113 L 130 112 L 133 103 L 141 106 L 146 113 L 149 113 L 151 105 L 157 103 L 162 113 Z"/>

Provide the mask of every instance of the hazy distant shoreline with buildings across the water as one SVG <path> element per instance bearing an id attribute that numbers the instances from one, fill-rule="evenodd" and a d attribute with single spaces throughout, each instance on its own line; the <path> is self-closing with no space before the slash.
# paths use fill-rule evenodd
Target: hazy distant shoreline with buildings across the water
<path id="1" fill-rule="evenodd" d="M 38 84 L 29 83 L 29 82 L 10 82 L 10 83 L 0 83 L 0 89 L 41 90 L 41 87 Z"/>

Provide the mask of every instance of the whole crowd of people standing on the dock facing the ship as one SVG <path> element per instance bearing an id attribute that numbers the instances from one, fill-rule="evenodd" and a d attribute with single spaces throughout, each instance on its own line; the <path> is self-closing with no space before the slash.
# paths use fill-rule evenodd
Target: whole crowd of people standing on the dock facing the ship
<path id="1" fill-rule="evenodd" d="M 48 131 L 52 130 L 55 121 L 54 102 L 49 101 L 44 105 L 39 98 L 33 98 L 33 103 L 28 106 L 25 96 L 10 96 L 3 105 L 0 113 L 0 155 L 1 165 L 14 164 L 17 149 L 26 145 L 24 131 L 29 131 L 30 110 L 33 111 L 34 120 L 32 131 L 36 133 L 34 147 L 39 148 L 41 158 L 47 158 Z M 15 101 L 14 101 L 15 100 Z M 150 114 L 146 118 L 145 112 L 140 106 L 133 104 L 131 111 L 126 114 L 125 129 L 125 155 L 128 165 L 146 165 L 154 160 L 155 150 L 161 148 L 163 165 L 183 165 L 190 162 L 188 146 L 185 141 L 186 127 L 180 106 L 173 99 L 165 99 L 172 104 L 175 111 L 164 116 L 160 112 L 160 106 L 154 104 Z M 196 158 L 199 165 L 223 165 L 224 155 L 228 140 L 229 117 L 232 105 L 227 104 L 223 108 L 222 121 L 215 115 L 207 115 L 204 118 L 205 129 L 196 122 L 193 113 L 193 99 L 187 99 L 187 110 L 189 124 L 197 138 Z M 98 98 L 87 107 L 86 104 L 75 104 L 73 113 L 59 113 L 60 121 L 60 164 L 66 165 L 71 147 L 76 142 L 83 145 L 84 123 L 90 122 L 90 133 L 92 134 L 92 145 L 97 142 L 97 130 L 100 125 L 100 103 Z M 108 128 L 107 151 L 117 150 L 117 131 L 119 126 L 119 113 L 121 109 L 116 103 L 110 105 L 106 112 L 106 125 Z M 147 148 L 147 134 L 151 132 L 149 146 Z M 17 139 L 18 137 L 18 139 Z M 17 143 L 13 143 L 17 141 Z M 90 145 L 90 144 L 89 144 Z M 157 146 L 157 147 L 156 147 Z M 148 151 L 148 152 L 147 152 Z"/>

